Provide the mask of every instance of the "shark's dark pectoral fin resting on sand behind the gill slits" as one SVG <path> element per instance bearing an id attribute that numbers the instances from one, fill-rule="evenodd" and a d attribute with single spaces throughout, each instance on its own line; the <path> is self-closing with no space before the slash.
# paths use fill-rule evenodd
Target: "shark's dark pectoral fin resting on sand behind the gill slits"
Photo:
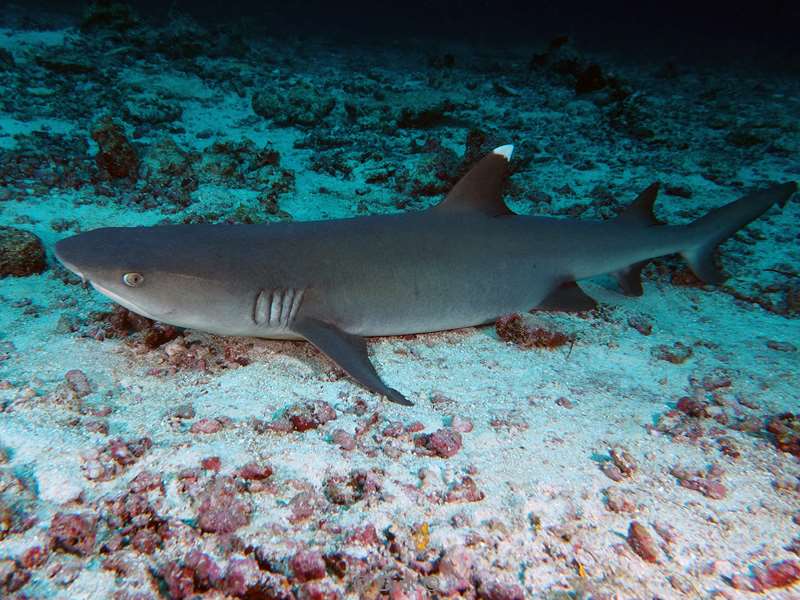
<path id="1" fill-rule="evenodd" d="M 397 404 L 414 405 L 403 394 L 381 381 L 367 355 L 364 338 L 351 335 L 331 323 L 311 317 L 296 319 L 292 323 L 292 330 L 314 344 L 320 352 L 368 390 L 382 394 Z"/>

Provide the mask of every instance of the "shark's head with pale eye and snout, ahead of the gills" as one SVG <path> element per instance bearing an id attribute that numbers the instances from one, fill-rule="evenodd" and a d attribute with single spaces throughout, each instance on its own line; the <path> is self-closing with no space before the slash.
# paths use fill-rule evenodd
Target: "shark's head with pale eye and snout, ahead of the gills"
<path id="1" fill-rule="evenodd" d="M 176 239 L 172 227 L 108 227 L 56 244 L 70 271 L 118 304 L 185 327 L 214 322 L 226 300 L 224 282 L 204 272 L 201 243 Z M 206 328 L 206 327 L 203 327 Z M 213 328 L 206 328 L 213 330 Z"/>

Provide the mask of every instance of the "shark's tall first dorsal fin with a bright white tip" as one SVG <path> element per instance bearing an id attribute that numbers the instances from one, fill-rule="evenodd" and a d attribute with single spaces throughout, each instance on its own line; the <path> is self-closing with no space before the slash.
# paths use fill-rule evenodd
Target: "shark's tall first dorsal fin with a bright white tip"
<path id="1" fill-rule="evenodd" d="M 492 150 L 456 183 L 434 210 L 475 211 L 492 217 L 513 214 L 503 202 L 503 186 L 513 151 L 511 144 Z"/>

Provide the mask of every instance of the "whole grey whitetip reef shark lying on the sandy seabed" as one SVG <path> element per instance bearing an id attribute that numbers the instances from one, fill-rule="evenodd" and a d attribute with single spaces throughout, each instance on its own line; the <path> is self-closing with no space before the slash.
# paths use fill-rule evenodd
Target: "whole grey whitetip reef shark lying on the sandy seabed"
<path id="1" fill-rule="evenodd" d="M 135 313 L 218 335 L 305 339 L 362 386 L 411 405 L 379 377 L 365 337 L 483 325 L 534 308 L 588 310 L 576 281 L 616 275 L 641 295 L 648 260 L 680 253 L 703 281 L 714 249 L 794 182 L 753 192 L 688 225 L 653 214 L 658 184 L 607 221 L 512 213 L 502 200 L 513 146 L 481 159 L 420 212 L 257 225 L 108 227 L 61 240 L 56 256 Z"/>

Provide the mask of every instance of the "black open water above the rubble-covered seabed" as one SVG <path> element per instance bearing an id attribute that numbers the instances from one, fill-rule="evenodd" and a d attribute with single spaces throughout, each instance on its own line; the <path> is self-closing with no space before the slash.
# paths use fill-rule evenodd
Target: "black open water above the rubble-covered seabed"
<path id="1" fill-rule="evenodd" d="M 569 34 L 597 50 L 652 58 L 735 61 L 771 59 L 800 68 L 800 2 L 588 2 L 525 0 L 305 0 L 303 2 L 129 2 L 141 17 L 163 25 L 182 13 L 205 26 L 244 26 L 272 35 L 335 35 L 342 41 L 409 37 L 524 45 Z M 38 18 L 78 18 L 85 2 L 0 2 L 0 22 L 35 25 Z M 32 10 L 33 9 L 33 10 Z M 33 23 L 32 23 L 33 21 Z"/>

